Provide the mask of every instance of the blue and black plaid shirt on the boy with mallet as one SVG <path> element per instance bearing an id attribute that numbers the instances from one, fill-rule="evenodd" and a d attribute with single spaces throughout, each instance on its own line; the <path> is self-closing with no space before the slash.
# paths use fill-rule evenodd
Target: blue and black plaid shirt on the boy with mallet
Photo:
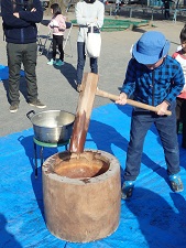
<path id="1" fill-rule="evenodd" d="M 166 56 L 155 69 L 149 69 L 131 58 L 121 91 L 128 97 L 133 96 L 136 101 L 157 106 L 164 100 L 174 101 L 184 84 L 180 64 L 171 56 Z"/>

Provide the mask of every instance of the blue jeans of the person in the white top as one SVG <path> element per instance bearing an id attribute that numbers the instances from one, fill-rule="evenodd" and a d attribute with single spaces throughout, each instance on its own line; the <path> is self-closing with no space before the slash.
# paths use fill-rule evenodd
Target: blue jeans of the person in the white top
<path id="1" fill-rule="evenodd" d="M 77 42 L 77 84 L 81 84 L 84 67 L 86 62 L 86 51 L 85 51 L 85 43 Z M 91 73 L 98 74 L 98 58 L 90 57 L 90 69 Z"/>

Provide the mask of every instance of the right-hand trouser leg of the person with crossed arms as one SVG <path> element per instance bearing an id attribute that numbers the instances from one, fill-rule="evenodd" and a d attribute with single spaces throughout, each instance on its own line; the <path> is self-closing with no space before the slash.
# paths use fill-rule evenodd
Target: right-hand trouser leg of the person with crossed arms
<path id="1" fill-rule="evenodd" d="M 37 99 L 36 84 L 36 43 L 24 44 L 23 65 L 25 72 L 28 101 L 32 103 Z"/>

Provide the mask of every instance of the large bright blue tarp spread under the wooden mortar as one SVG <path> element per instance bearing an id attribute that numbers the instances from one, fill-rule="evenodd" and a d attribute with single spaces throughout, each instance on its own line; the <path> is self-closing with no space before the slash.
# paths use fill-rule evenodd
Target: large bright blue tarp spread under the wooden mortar
<path id="1" fill-rule="evenodd" d="M 94 109 L 85 148 L 113 154 L 123 175 L 131 107 Z M 180 143 L 180 134 L 178 134 Z M 54 237 L 44 222 L 41 168 L 34 177 L 33 129 L 0 138 L 0 247 L 4 248 L 185 248 L 186 191 L 169 188 L 163 149 L 154 127 L 147 132 L 133 196 L 121 201 L 120 224 L 109 237 L 73 244 Z M 59 148 L 63 151 L 64 148 Z M 45 159 L 58 150 L 45 148 Z M 186 185 L 186 150 L 180 148 Z M 70 213 L 69 213 L 70 214 Z"/>

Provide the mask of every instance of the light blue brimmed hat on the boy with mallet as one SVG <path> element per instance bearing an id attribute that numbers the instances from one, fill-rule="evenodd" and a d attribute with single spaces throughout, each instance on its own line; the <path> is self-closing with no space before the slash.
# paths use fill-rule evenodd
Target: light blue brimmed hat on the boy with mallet
<path id="1" fill-rule="evenodd" d="M 132 55 L 139 63 L 151 65 L 167 55 L 168 50 L 169 41 L 165 39 L 163 33 L 147 31 L 133 45 Z"/>

